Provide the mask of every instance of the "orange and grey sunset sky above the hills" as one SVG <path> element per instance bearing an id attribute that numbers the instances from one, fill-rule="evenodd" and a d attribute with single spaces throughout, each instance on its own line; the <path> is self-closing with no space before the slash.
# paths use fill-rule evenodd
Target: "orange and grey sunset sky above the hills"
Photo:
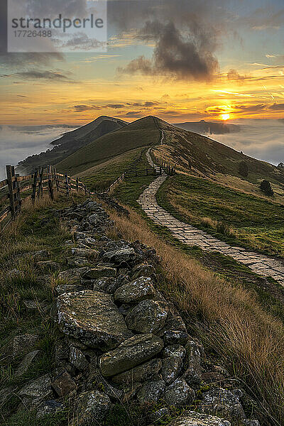
<path id="1" fill-rule="evenodd" d="M 107 6 L 106 52 L 0 54 L 0 124 L 284 117 L 283 0 Z"/>

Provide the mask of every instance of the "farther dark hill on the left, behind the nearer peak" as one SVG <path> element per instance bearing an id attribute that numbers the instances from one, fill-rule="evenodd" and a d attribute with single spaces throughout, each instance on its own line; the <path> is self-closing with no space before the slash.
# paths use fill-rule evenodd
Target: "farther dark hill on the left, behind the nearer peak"
<path id="1" fill-rule="evenodd" d="M 31 155 L 20 161 L 17 170 L 21 173 L 32 173 L 36 166 L 55 165 L 55 163 L 64 160 L 68 155 L 75 153 L 75 151 L 87 145 L 90 141 L 121 129 L 127 124 L 126 121 L 114 119 L 113 117 L 100 116 L 91 123 L 64 133 L 61 138 L 51 142 L 54 148 L 37 155 Z"/>

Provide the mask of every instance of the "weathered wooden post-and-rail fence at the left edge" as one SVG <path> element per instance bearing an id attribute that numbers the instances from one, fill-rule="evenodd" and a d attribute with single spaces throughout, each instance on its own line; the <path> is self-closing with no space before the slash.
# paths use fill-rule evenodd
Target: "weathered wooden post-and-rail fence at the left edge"
<path id="1" fill-rule="evenodd" d="M 91 194 L 78 178 L 72 179 L 67 174 L 58 173 L 51 165 L 45 169 L 37 168 L 35 173 L 26 176 L 16 175 L 15 168 L 6 165 L 6 179 L 0 182 L 0 231 L 18 216 L 27 200 L 35 203 L 44 192 L 53 200 L 55 191 L 68 196 L 80 191 L 85 195 Z"/>

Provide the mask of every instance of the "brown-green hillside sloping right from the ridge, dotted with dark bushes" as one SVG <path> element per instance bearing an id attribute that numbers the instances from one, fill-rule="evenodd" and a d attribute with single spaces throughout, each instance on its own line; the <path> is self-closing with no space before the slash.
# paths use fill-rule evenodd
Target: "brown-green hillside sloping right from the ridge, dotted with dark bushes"
<path id="1" fill-rule="evenodd" d="M 284 173 L 274 165 L 239 153 L 206 136 L 178 129 L 165 121 L 160 120 L 159 126 L 164 131 L 165 139 L 162 146 L 155 148 L 155 156 L 176 163 L 182 173 L 213 178 L 222 183 L 226 183 L 227 176 L 229 179 L 235 176 L 235 185 L 241 185 L 244 181 L 259 184 L 261 180 L 268 179 L 283 191 Z M 239 175 L 239 163 L 243 160 L 249 168 L 247 178 Z"/>

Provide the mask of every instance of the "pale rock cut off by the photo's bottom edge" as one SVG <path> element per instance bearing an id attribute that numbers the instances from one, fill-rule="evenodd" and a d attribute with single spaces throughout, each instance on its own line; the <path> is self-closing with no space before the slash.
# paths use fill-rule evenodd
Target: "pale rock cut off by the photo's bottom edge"
<path id="1" fill-rule="evenodd" d="M 168 426 L 231 426 L 227 420 L 212 415 L 204 415 L 195 411 L 185 411 Z"/>

